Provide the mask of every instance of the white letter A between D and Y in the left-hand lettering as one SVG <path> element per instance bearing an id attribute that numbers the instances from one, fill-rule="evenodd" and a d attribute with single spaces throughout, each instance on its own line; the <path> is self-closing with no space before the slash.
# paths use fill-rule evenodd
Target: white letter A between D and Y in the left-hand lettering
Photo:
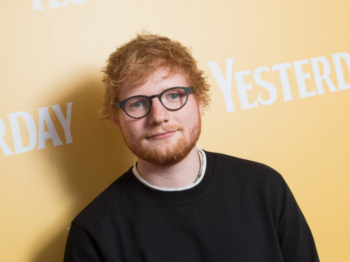
<path id="1" fill-rule="evenodd" d="M 37 110 L 39 110 L 39 142 L 37 149 L 45 148 L 46 139 L 51 139 L 53 146 L 63 145 L 48 113 L 48 107 L 41 107 Z M 47 131 L 44 131 L 44 122 L 46 123 Z"/>

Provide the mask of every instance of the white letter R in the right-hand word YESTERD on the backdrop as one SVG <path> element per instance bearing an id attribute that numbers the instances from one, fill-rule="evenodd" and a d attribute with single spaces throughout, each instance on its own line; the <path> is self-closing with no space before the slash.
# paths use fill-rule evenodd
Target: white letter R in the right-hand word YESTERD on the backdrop
<path id="1" fill-rule="evenodd" d="M 313 75 L 314 75 L 315 82 L 316 82 L 317 94 L 318 95 L 324 94 L 322 80 L 324 80 L 327 83 L 330 92 L 338 91 L 336 89 L 335 85 L 333 84 L 333 82 L 329 78 L 330 64 L 329 64 L 327 58 L 325 58 L 323 56 L 319 56 L 319 57 L 315 57 L 315 58 L 310 58 L 310 61 L 311 61 Z M 323 74 L 322 75 L 319 71 L 318 61 L 321 62 L 322 66 L 323 66 Z"/>

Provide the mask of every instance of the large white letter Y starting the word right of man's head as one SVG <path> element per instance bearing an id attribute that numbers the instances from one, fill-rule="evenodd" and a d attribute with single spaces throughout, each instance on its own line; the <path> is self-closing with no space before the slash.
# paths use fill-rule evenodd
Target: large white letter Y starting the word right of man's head
<path id="1" fill-rule="evenodd" d="M 226 80 L 224 79 L 216 61 L 207 62 L 208 66 L 210 67 L 212 73 L 214 74 L 214 77 L 223 93 L 223 98 L 226 105 L 226 112 L 234 111 L 232 95 L 231 95 L 233 59 L 234 57 L 225 59 L 226 60 Z"/>

